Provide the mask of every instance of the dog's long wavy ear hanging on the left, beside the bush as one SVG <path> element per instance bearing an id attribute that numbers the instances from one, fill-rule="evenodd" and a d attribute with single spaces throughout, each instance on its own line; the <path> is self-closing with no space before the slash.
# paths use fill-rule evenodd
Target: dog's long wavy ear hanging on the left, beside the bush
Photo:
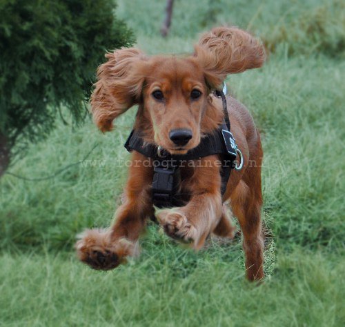
<path id="1" fill-rule="evenodd" d="M 144 83 L 146 57 L 136 48 L 107 53 L 108 61 L 97 70 L 91 95 L 92 116 L 102 132 L 112 129 L 112 121 L 139 102 Z"/>

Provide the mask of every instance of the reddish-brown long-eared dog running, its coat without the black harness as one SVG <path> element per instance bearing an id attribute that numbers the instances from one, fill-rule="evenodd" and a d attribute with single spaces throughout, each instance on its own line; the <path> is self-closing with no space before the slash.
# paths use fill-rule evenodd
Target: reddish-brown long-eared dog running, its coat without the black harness
<path id="1" fill-rule="evenodd" d="M 262 66 L 262 44 L 237 28 L 215 28 L 186 57 L 147 57 L 136 48 L 106 54 L 108 61 L 98 69 L 98 81 L 91 106 L 100 130 L 112 129 L 112 121 L 135 104 L 139 105 L 135 130 L 144 141 L 184 155 L 201 138 L 216 130 L 223 119 L 221 99 L 213 95 L 226 75 Z M 199 249 L 210 233 L 232 237 L 234 228 L 226 215 L 224 201 L 239 219 L 246 253 L 248 279 L 262 279 L 262 145 L 250 113 L 233 97 L 228 97 L 231 131 L 244 157 L 244 168 L 233 170 L 226 193 L 221 197 L 221 177 L 217 155 L 204 157 L 195 167 L 181 168 L 180 189 L 190 195 L 185 206 L 164 209 L 157 214 L 166 233 Z M 188 130 L 187 139 L 176 144 L 175 130 Z M 116 212 L 108 230 L 87 230 L 77 242 L 81 261 L 96 269 L 115 268 L 138 252 L 138 239 L 152 206 L 152 165 L 132 152 L 126 185 L 126 201 Z M 206 162 L 207 161 L 207 162 Z M 139 163 L 139 164 L 138 164 Z"/>

